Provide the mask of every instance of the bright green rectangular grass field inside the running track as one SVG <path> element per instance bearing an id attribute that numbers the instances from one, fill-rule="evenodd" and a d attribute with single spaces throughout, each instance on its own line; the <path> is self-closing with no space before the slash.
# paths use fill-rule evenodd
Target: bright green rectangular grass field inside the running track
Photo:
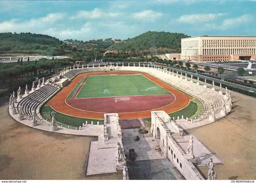
<path id="1" fill-rule="evenodd" d="M 169 94 L 143 75 L 91 75 L 76 98 Z"/>

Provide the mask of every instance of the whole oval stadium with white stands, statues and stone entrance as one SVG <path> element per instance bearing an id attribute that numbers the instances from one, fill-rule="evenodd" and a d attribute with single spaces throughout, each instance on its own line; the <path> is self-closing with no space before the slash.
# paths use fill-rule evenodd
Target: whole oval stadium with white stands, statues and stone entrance
<path id="1" fill-rule="evenodd" d="M 205 166 L 210 159 L 214 164 L 222 161 L 196 137 L 191 141 L 185 130 L 215 122 L 231 109 L 227 88 L 217 89 L 214 81 L 203 82 L 196 74 L 152 63 L 65 67 L 48 80 L 34 81 L 31 89 L 19 88 L 9 100 L 10 115 L 24 125 L 52 133 L 97 136 L 91 142 L 87 176 L 123 171 L 124 179 L 136 179 L 134 166 L 127 161 L 131 148 L 140 160 L 166 157 L 184 179 L 205 179 L 197 165 Z M 135 138 L 146 140 L 140 140 L 140 146 L 151 141 L 152 157 L 133 147 L 136 140 L 131 139 Z M 188 149 L 193 142 L 194 152 Z M 154 147 L 161 153 L 155 153 Z M 206 159 L 201 159 L 203 154 L 208 154 Z M 210 176 L 216 178 L 214 173 Z"/>

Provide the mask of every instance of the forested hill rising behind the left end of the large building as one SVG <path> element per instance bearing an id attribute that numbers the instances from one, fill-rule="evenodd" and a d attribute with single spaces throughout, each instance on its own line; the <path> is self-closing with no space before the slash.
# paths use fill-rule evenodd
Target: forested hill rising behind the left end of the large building
<path id="1" fill-rule="evenodd" d="M 170 32 L 146 32 L 134 38 L 115 43 L 109 50 L 150 50 L 158 52 L 168 50 L 169 52 L 180 52 L 180 39 L 187 38 L 183 33 Z"/>

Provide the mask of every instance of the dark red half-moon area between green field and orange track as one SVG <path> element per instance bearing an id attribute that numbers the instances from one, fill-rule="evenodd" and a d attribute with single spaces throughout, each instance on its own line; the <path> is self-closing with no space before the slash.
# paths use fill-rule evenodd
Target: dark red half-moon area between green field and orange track
<path id="1" fill-rule="evenodd" d="M 153 110 L 169 105 L 174 102 L 174 100 L 174 95 L 168 94 L 127 97 L 67 98 L 66 103 L 73 108 L 83 111 L 120 113 Z"/>

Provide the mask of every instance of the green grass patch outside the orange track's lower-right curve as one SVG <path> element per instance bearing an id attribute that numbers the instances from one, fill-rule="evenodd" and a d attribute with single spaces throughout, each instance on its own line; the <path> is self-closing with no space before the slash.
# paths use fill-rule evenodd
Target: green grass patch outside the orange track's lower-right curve
<path id="1" fill-rule="evenodd" d="M 169 114 L 169 116 L 171 118 L 175 117 L 175 119 L 177 119 L 178 116 L 181 117 L 183 115 L 184 118 L 188 117 L 189 119 L 191 119 L 191 118 L 194 118 L 195 116 L 198 116 L 202 112 L 202 110 L 203 110 L 202 103 L 196 99 L 193 99 L 193 100 L 190 100 L 190 104 L 187 107 L 181 109 L 180 111 L 173 112 Z M 151 122 L 150 117 L 144 120 Z"/>

